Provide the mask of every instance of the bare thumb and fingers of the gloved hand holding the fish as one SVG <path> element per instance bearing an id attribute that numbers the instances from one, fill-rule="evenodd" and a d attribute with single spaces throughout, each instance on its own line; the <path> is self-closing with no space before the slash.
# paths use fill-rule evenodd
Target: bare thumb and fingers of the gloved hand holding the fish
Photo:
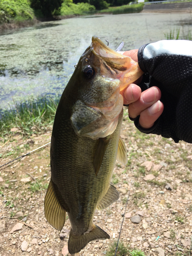
<path id="1" fill-rule="evenodd" d="M 138 49 L 126 51 L 125 56 L 130 56 L 133 60 L 138 61 Z M 163 103 L 160 101 L 161 91 L 158 87 L 151 87 L 144 92 L 137 86 L 141 79 L 130 84 L 128 88 L 121 92 L 123 103 L 129 104 L 129 116 L 136 118 L 140 115 L 139 125 L 144 129 L 150 129 L 154 122 L 160 117 L 163 112 Z"/>

